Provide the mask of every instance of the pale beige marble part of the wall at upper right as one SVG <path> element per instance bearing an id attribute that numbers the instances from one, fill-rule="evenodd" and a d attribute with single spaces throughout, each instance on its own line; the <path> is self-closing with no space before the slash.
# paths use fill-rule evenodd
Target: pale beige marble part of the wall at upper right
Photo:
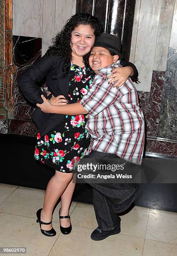
<path id="1" fill-rule="evenodd" d="M 166 71 L 175 2 L 136 0 L 130 61 L 139 71 L 139 91 L 150 92 L 154 70 Z"/>

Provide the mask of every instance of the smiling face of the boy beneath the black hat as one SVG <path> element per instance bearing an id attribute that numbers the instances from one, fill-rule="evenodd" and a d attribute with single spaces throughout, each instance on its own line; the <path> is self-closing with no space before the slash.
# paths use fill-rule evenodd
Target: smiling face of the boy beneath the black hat
<path id="1" fill-rule="evenodd" d="M 119 55 L 112 56 L 110 52 L 103 47 L 93 47 L 90 52 L 89 65 L 91 69 L 97 74 L 99 68 L 108 67 L 117 62 Z"/>

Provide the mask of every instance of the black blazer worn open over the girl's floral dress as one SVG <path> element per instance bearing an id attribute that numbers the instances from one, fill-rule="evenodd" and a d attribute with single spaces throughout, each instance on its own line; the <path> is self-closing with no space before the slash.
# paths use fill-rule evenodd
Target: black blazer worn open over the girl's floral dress
<path id="1" fill-rule="evenodd" d="M 67 100 L 69 91 L 70 69 L 67 74 L 63 74 L 63 64 L 66 58 L 59 56 L 43 56 L 36 61 L 31 67 L 22 72 L 18 80 L 18 86 L 25 98 L 32 104 L 42 103 L 41 95 L 45 95 L 40 89 L 40 82 L 46 79 L 47 88 L 57 97 L 64 95 Z M 134 70 L 134 78 L 137 79 L 138 72 L 134 64 L 131 62 L 121 61 L 122 67 L 131 66 Z M 94 76 L 94 72 L 90 71 Z M 45 95 L 46 96 L 46 95 Z M 40 136 L 44 136 L 54 130 L 65 118 L 65 115 L 44 113 L 37 108 L 32 113 L 32 119 L 39 129 Z"/>

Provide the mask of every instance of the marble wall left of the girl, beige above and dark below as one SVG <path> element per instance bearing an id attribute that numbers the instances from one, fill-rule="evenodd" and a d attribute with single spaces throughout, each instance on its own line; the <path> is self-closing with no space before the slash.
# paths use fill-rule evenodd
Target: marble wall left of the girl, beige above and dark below
<path id="1" fill-rule="evenodd" d="M 13 0 L 12 4 L 15 111 L 12 120 L 1 120 L 0 133 L 35 136 L 37 128 L 31 119 L 34 108 L 20 93 L 17 79 L 52 45 L 52 38 L 75 14 L 76 0 Z"/>

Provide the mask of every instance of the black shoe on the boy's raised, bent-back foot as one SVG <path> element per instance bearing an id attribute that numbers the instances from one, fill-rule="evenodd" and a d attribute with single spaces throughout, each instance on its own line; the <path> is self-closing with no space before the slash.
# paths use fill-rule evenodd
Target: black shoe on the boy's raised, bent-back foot
<path id="1" fill-rule="evenodd" d="M 137 199 L 137 197 L 140 195 L 141 192 L 142 192 L 142 188 L 139 185 L 137 185 L 135 192 L 130 198 L 128 198 L 122 203 L 115 203 L 113 205 L 112 207 L 113 211 L 116 213 L 120 213 L 127 210 L 130 207 L 130 205 L 132 205 L 132 203 L 135 201 L 135 199 Z"/>

